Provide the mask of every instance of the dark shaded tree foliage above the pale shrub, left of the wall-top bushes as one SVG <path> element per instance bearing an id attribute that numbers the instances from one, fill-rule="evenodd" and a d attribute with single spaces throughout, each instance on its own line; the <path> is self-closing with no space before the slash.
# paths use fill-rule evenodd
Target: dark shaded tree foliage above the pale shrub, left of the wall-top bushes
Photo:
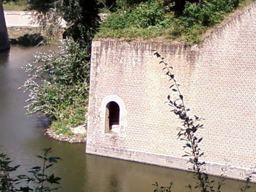
<path id="1" fill-rule="evenodd" d="M 100 21 L 96 0 L 29 0 L 29 4 L 30 9 L 38 11 L 43 26 L 62 17 L 67 22 L 64 38 L 72 37 L 83 47 L 90 45 Z"/>

